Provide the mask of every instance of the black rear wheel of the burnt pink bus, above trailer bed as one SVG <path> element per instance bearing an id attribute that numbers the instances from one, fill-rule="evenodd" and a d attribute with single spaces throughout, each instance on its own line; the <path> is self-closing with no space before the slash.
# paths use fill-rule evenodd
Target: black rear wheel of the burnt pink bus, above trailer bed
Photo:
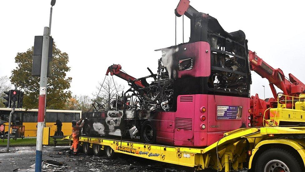
<path id="1" fill-rule="evenodd" d="M 156 142 L 156 129 L 151 121 L 146 120 L 143 122 L 140 135 L 144 143 L 152 144 Z"/>

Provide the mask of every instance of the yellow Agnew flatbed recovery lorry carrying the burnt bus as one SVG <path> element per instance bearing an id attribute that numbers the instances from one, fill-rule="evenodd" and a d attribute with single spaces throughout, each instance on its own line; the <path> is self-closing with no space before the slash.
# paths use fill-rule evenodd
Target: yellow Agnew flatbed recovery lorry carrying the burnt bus
<path id="1" fill-rule="evenodd" d="M 115 158 L 118 153 L 228 172 L 248 168 L 255 172 L 305 171 L 305 127 L 253 127 L 224 133 L 208 147 L 173 147 L 109 138 L 80 137 L 85 154 Z M 301 138 L 300 138 L 301 136 Z M 64 139 L 72 140 L 71 136 Z"/>

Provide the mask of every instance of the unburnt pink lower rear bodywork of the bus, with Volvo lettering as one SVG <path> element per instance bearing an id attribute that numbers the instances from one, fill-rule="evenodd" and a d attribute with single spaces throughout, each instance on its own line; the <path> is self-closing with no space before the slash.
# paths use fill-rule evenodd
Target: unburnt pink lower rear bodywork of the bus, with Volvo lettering
<path id="1" fill-rule="evenodd" d="M 240 119 L 217 119 L 218 106 L 242 107 Z M 175 146 L 209 146 L 223 133 L 245 128 L 248 123 L 250 99 L 218 95 L 180 95 L 176 112 L 156 112 L 152 120 L 157 130 L 157 142 Z M 202 112 L 202 107 L 206 112 Z M 202 115 L 206 117 L 202 121 Z M 202 129 L 205 125 L 205 129 Z"/>

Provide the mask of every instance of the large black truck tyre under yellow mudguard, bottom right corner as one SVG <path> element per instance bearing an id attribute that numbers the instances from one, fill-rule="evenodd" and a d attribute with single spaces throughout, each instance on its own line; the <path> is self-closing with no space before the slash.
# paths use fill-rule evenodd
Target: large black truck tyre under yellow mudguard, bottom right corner
<path id="1" fill-rule="evenodd" d="M 302 172 L 297 158 L 285 149 L 272 148 L 263 152 L 256 161 L 255 172 Z"/>

